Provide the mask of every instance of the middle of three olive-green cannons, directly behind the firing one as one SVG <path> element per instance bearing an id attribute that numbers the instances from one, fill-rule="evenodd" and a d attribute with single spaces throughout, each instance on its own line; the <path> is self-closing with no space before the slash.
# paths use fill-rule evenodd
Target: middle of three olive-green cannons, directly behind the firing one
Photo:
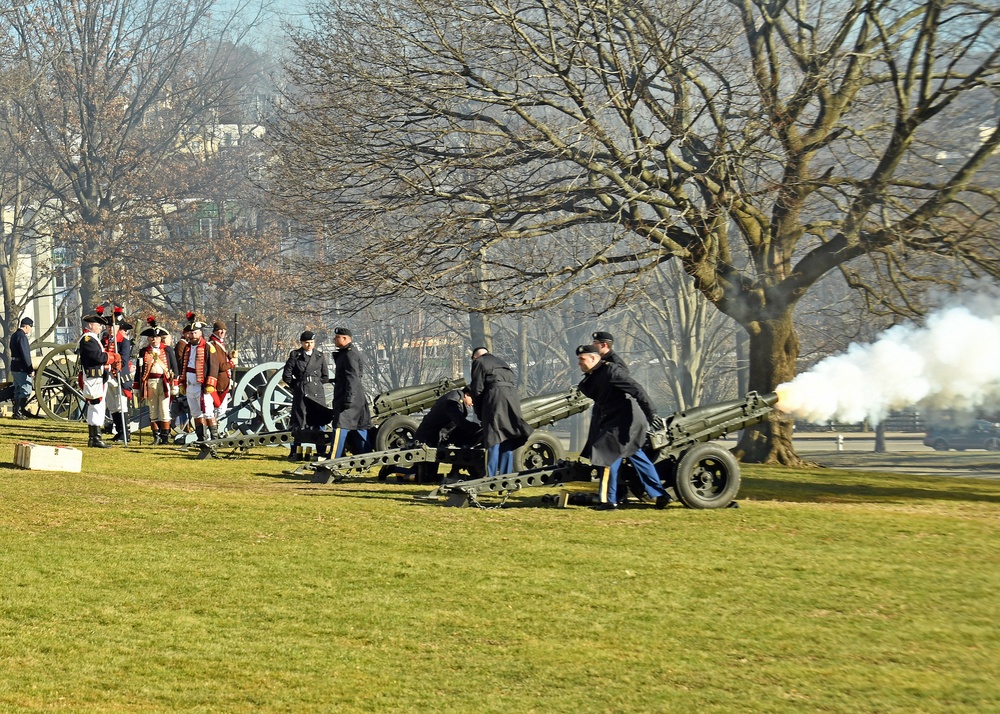
<path id="1" fill-rule="evenodd" d="M 561 419 L 586 411 L 590 399 L 575 387 L 562 392 L 539 394 L 521 400 L 521 416 L 534 429 L 540 429 Z M 536 431 L 514 452 L 514 467 L 537 469 L 554 466 L 564 456 L 562 443 L 547 431 Z M 315 470 L 313 482 L 333 483 L 351 474 L 379 469 L 379 479 L 401 469 L 416 467 L 418 482 L 436 480 L 438 464 L 450 464 L 471 474 L 486 473 L 486 450 L 454 446 L 432 447 L 410 444 L 404 448 L 376 450 L 368 454 L 327 459 L 310 464 Z"/>

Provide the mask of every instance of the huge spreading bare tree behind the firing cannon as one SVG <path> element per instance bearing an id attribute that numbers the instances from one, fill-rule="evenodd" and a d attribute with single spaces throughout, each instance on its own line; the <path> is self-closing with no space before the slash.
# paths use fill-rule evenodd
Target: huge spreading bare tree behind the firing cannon
<path id="1" fill-rule="evenodd" d="M 998 27 L 972 1 L 331 0 L 295 37 L 282 185 L 365 246 L 340 267 L 369 294 L 459 307 L 475 277 L 475 309 L 534 310 L 677 259 L 770 391 L 795 374 L 797 302 L 850 261 L 885 268 L 864 284 L 883 305 L 904 255 L 1000 272 L 997 189 L 974 182 L 1000 147 L 977 131 L 997 127 Z M 737 451 L 798 462 L 777 414 Z"/>

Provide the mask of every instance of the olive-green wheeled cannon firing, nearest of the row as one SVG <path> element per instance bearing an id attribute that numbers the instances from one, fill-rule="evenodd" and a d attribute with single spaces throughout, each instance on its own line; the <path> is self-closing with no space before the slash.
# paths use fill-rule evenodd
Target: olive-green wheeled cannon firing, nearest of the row
<path id="1" fill-rule="evenodd" d="M 777 402 L 774 392 L 763 396 L 749 392 L 743 399 L 675 412 L 657 420 L 644 448 L 667 495 L 688 508 L 729 506 L 740 488 L 739 463 L 728 450 L 708 442 L 763 421 Z M 631 465 L 623 464 L 619 478 L 628 482 L 631 470 Z M 596 481 L 602 471 L 585 459 L 562 461 L 545 468 L 442 484 L 418 498 L 446 498 L 449 506 L 479 505 L 478 497 L 484 494 L 506 498 L 523 488 Z"/>

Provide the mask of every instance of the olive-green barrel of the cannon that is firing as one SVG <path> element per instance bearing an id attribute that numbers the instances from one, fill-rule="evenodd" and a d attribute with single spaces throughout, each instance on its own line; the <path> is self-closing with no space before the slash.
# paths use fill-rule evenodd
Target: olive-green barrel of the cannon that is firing
<path id="1" fill-rule="evenodd" d="M 675 412 L 663 426 L 649 432 L 649 445 L 670 452 L 698 441 L 711 441 L 763 421 L 778 403 L 776 392 L 748 392 L 743 399 Z"/>

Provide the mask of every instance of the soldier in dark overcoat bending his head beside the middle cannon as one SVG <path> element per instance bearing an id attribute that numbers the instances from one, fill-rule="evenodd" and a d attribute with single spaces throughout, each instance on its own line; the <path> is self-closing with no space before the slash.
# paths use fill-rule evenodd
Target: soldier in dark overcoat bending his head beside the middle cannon
<path id="1" fill-rule="evenodd" d="M 510 366 L 485 347 L 472 351 L 472 403 L 483 425 L 488 476 L 514 470 L 514 450 L 534 431 L 521 416 L 521 399 Z"/>

